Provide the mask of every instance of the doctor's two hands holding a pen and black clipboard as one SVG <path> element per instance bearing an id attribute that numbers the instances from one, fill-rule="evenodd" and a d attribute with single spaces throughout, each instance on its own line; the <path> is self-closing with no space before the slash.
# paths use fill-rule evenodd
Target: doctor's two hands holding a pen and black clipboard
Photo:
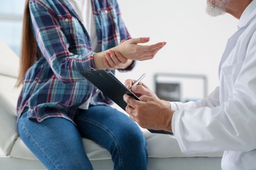
<path id="1" fill-rule="evenodd" d="M 125 84 L 129 86 L 134 82 L 135 80 L 127 80 Z M 123 100 L 127 103 L 125 110 L 130 118 L 143 128 L 171 132 L 171 120 L 174 110 L 170 109 L 169 102 L 159 99 L 144 84 L 133 86 L 131 90 L 137 94 L 140 101 L 133 99 L 129 95 L 123 95 Z"/>

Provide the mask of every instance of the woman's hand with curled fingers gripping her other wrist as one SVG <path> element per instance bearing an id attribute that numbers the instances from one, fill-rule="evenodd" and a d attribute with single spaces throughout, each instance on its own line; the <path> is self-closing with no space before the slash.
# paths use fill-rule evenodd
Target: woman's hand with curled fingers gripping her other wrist
<path id="1" fill-rule="evenodd" d="M 119 52 L 114 52 L 109 50 L 105 53 L 105 58 L 103 58 L 103 64 L 108 70 L 114 69 L 125 69 L 131 65 L 133 60 L 123 57 Z"/>

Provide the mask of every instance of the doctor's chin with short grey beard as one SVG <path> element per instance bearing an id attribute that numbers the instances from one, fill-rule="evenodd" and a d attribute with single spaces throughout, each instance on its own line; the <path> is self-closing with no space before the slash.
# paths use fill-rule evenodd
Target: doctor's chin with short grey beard
<path id="1" fill-rule="evenodd" d="M 207 0 L 206 13 L 210 16 L 219 16 L 225 14 L 226 5 L 230 0 L 217 0 L 213 3 L 211 0 Z"/>

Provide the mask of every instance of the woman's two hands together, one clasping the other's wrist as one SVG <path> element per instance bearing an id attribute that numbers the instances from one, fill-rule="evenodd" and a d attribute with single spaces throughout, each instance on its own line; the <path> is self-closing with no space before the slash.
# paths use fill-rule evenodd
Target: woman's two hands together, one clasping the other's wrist
<path id="1" fill-rule="evenodd" d="M 150 38 L 129 39 L 121 41 L 121 44 L 110 50 L 96 53 L 93 56 L 96 69 L 125 69 L 131 65 L 133 60 L 142 61 L 154 58 L 166 42 L 139 45 L 149 40 Z"/>

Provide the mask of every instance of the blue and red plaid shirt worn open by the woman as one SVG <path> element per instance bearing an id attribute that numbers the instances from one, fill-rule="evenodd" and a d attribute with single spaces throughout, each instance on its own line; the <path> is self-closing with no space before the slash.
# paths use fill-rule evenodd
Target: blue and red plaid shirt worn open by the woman
<path id="1" fill-rule="evenodd" d="M 129 33 L 116 0 L 92 0 L 99 51 L 117 46 Z M 27 71 L 18 99 L 18 117 L 41 122 L 53 116 L 72 121 L 79 105 L 112 103 L 78 71 L 95 69 L 91 41 L 79 16 L 66 0 L 30 0 L 37 61 Z M 134 67 L 127 68 L 130 70 Z"/>

